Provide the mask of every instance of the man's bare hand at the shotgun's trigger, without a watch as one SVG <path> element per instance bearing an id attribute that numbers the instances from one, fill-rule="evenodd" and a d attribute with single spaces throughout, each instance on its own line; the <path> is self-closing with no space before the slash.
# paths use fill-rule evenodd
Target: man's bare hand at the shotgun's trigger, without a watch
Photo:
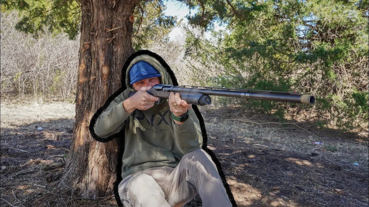
<path id="1" fill-rule="evenodd" d="M 156 98 L 150 95 L 148 92 L 146 92 L 151 88 L 152 88 L 151 86 L 142 87 L 130 98 L 125 99 L 123 101 L 123 108 L 125 112 L 132 113 L 135 109 L 147 110 L 152 106 L 154 106 L 155 101 L 158 101 L 159 98 Z"/>

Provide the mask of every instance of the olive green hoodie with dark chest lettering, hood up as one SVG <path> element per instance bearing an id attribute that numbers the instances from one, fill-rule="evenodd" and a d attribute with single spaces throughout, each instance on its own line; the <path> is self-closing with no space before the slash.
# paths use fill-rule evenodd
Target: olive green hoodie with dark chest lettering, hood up
<path id="1" fill-rule="evenodd" d="M 162 75 L 161 84 L 173 84 L 168 72 L 158 60 L 149 55 L 141 55 L 132 60 L 126 71 L 126 86 L 96 120 L 95 134 L 106 138 L 125 129 L 122 178 L 157 166 L 175 167 L 182 156 L 202 147 L 200 124 L 193 109 L 189 109 L 189 119 L 182 125 L 174 123 L 168 99 L 162 99 L 148 110 L 127 113 L 123 101 L 134 91 L 129 84 L 129 69 L 140 61 L 146 61 Z"/>

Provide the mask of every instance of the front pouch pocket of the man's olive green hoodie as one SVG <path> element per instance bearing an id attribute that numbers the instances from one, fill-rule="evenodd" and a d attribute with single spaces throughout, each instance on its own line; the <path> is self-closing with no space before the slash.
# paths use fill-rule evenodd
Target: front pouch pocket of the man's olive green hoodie
<path id="1" fill-rule="evenodd" d="M 165 152 L 135 152 L 133 155 L 131 166 L 138 165 L 146 162 L 163 162 L 171 163 L 175 162 L 176 159 L 171 151 Z"/>

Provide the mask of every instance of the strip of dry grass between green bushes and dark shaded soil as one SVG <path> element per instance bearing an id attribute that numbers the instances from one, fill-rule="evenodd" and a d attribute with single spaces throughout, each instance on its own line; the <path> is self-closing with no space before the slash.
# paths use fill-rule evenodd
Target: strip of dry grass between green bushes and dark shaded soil
<path id="1" fill-rule="evenodd" d="M 222 112 L 224 110 L 228 112 Z M 238 115 L 237 110 L 216 109 L 210 106 L 203 106 L 200 111 L 207 114 L 204 121 L 210 139 L 223 142 L 231 139 L 235 145 L 258 143 L 299 154 L 315 152 L 345 164 L 358 162 L 368 167 L 368 133 L 321 130 L 314 126 L 313 121 L 301 121 L 301 117 L 295 117 L 300 121 L 293 119 L 282 123 L 267 115 Z M 324 144 L 314 145 L 314 141 Z M 332 152 L 332 148 L 337 151 Z"/>

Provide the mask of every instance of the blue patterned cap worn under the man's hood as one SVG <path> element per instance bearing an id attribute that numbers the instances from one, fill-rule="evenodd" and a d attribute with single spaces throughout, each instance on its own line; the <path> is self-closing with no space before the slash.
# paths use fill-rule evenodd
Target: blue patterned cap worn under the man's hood
<path id="1" fill-rule="evenodd" d="M 133 64 L 129 73 L 131 80 L 130 84 L 136 83 L 137 81 L 145 78 L 161 77 L 161 74 L 154 66 L 142 60 Z"/>

